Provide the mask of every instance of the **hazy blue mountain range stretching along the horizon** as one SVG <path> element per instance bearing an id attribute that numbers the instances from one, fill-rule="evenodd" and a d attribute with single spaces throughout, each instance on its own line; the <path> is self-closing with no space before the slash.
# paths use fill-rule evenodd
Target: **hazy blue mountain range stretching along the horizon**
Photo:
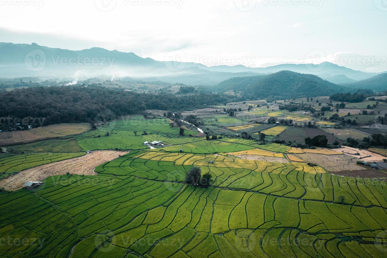
<path id="1" fill-rule="evenodd" d="M 94 61 L 93 64 L 91 64 Z M 281 64 L 265 68 L 251 68 L 243 65 L 217 65 L 208 67 L 192 62 L 157 61 L 142 58 L 135 53 L 90 48 L 85 50 L 66 50 L 49 48 L 36 43 L 13 44 L 0 43 L 0 76 L 7 77 L 64 77 L 86 79 L 87 77 L 135 77 L 147 81 L 161 80 L 171 83 L 214 86 L 233 77 L 264 76 L 280 71 L 292 71 L 301 74 L 313 74 L 331 83 L 372 85 L 378 88 L 379 79 L 367 83 L 363 80 L 378 76 L 342 67 L 329 62 L 320 65 Z M 363 81 L 357 84 L 358 81 Z"/>

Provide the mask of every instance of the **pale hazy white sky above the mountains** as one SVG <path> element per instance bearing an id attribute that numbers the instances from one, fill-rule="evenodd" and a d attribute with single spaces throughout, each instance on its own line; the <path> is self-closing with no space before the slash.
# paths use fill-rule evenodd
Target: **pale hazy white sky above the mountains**
<path id="1" fill-rule="evenodd" d="M 266 67 L 387 71 L 387 0 L 0 0 L 0 41 Z"/>

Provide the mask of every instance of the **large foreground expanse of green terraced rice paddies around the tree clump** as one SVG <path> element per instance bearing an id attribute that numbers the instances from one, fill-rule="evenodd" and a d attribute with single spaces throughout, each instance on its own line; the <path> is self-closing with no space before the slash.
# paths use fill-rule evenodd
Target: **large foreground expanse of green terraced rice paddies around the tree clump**
<path id="1" fill-rule="evenodd" d="M 224 158 L 224 166 L 198 165 L 213 187 L 192 187 L 183 183 L 191 165 L 151 154 L 132 151 L 96 176 L 49 177 L 35 193 L 0 193 L 0 237 L 32 243 L 0 245 L 0 255 L 385 256 L 384 181 Z"/>

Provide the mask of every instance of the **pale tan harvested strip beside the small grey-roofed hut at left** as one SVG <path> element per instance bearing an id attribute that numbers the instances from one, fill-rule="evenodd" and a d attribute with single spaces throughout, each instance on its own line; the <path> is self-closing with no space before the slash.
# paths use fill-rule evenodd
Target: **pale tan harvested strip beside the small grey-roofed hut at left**
<path id="1" fill-rule="evenodd" d="M 52 175 L 64 175 L 66 173 L 96 175 L 94 173 L 96 167 L 127 153 L 128 151 L 94 151 L 82 157 L 26 169 L 19 174 L 1 180 L 0 187 L 3 187 L 6 191 L 15 191 L 22 188 L 27 181 L 42 181 Z"/>

